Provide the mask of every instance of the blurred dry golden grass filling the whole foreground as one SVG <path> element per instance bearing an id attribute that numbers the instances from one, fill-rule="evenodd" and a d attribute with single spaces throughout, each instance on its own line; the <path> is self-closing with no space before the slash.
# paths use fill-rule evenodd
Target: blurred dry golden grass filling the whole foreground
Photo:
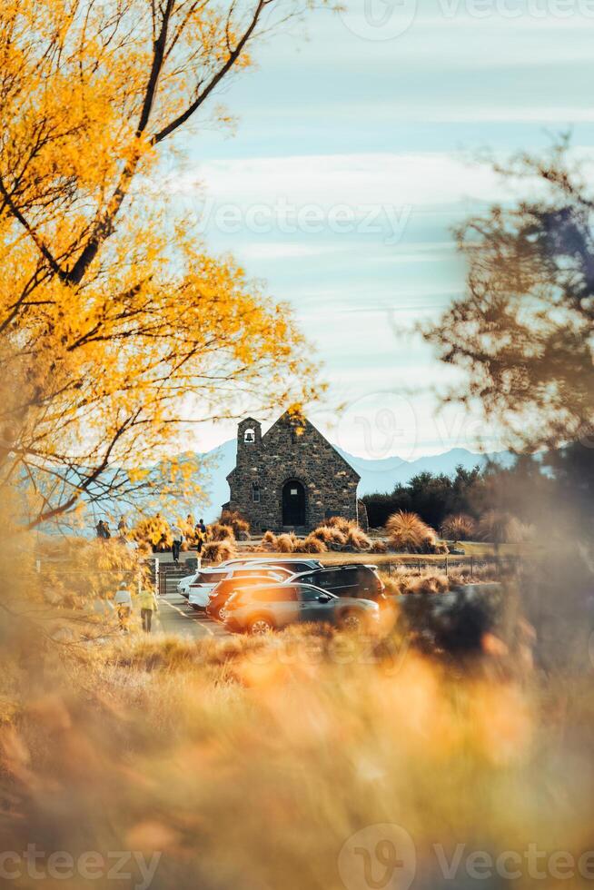
<path id="1" fill-rule="evenodd" d="M 413 886 L 433 890 L 443 883 L 434 844 L 448 859 L 458 843 L 493 855 L 536 844 L 579 856 L 591 845 L 585 667 L 530 674 L 492 635 L 473 665 L 447 667 L 390 624 L 380 638 L 303 626 L 89 643 L 80 610 L 48 611 L 34 554 L 17 574 L 0 559 L 5 851 L 161 854 L 155 890 L 342 890 L 343 845 L 391 823 L 416 846 Z M 445 583 L 439 573 L 397 580 L 408 592 Z M 381 831 L 358 844 L 372 855 Z M 347 866 L 363 880 L 352 871 L 361 856 Z M 452 886 L 466 881 L 460 867 Z M 514 886 L 533 883 L 522 875 Z"/>

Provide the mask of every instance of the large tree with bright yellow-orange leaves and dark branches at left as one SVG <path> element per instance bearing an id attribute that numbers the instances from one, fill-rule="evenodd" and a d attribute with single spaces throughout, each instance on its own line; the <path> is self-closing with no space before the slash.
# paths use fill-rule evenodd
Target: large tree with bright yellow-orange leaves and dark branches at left
<path id="1" fill-rule="evenodd" d="M 0 486 L 29 525 L 132 496 L 189 424 L 312 397 L 291 313 L 159 183 L 292 0 L 0 9 Z M 122 469 L 124 468 L 124 469 Z M 172 478 L 176 468 L 170 467 Z"/>

